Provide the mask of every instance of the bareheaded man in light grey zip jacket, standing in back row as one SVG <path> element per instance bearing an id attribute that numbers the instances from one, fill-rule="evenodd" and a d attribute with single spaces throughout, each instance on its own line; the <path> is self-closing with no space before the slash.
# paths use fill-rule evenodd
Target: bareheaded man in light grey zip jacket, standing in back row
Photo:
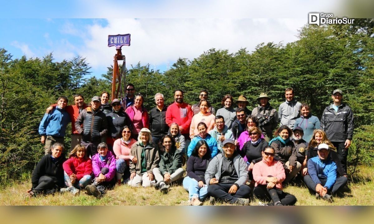
<path id="1" fill-rule="evenodd" d="M 294 96 L 294 89 L 292 89 L 291 87 L 285 89 L 286 102 L 282 102 L 282 104 L 279 105 L 278 110 L 281 126 L 285 125 L 290 129 L 294 128 L 295 121 L 300 116 L 301 108 L 301 103 L 297 102 L 297 100 L 294 99 Z"/>

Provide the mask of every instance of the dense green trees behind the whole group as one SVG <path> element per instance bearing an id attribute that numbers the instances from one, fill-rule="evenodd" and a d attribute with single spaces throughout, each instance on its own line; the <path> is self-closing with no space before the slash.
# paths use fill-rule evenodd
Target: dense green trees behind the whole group
<path id="1" fill-rule="evenodd" d="M 208 89 L 216 110 L 227 93 L 235 99 L 247 96 L 252 109 L 258 95 L 267 92 L 270 103 L 278 107 L 285 100 L 284 89 L 291 86 L 298 101 L 310 103 L 318 117 L 330 104 L 331 91 L 340 88 L 355 113 L 357 135 L 350 161 L 361 158 L 370 163 L 374 160 L 369 143 L 369 139 L 374 141 L 370 133 L 374 122 L 374 20 L 356 21 L 354 25 L 306 25 L 297 41 L 259 43 L 253 52 L 208 49 L 194 59 L 176 59 L 164 73 L 139 62 L 127 68 L 126 82 L 145 96 L 148 110 L 154 106 L 155 93 L 163 93 L 166 104 L 171 104 L 177 88 L 186 92 L 185 101 L 190 104 L 198 101 L 199 90 Z M 113 68 L 108 67 L 101 78 L 87 76 L 90 68 L 79 55 L 61 62 L 55 62 L 52 53 L 43 58 L 13 59 L 0 49 L 1 182 L 30 173 L 43 155 L 37 128 L 46 107 L 58 95 L 67 95 L 72 103 L 73 94 L 82 93 L 88 102 L 103 90 L 111 91 Z M 65 142 L 68 147 L 69 136 Z"/>

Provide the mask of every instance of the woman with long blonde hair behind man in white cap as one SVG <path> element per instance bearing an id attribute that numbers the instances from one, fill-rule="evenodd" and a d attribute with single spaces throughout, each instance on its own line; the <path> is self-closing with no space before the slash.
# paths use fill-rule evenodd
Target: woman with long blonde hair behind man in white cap
<path id="1" fill-rule="evenodd" d="M 329 146 L 329 157 L 332 161 L 334 161 L 336 163 L 336 168 L 337 168 L 336 172 L 338 173 L 338 175 L 340 177 L 343 177 L 343 176 L 347 177 L 347 173 L 344 170 L 343 165 L 341 165 L 340 159 L 338 157 L 337 152 L 335 151 L 334 145 L 332 145 L 332 143 L 329 141 L 326 133 L 322 130 L 319 130 L 319 129 L 316 129 L 316 130 L 313 131 L 312 139 L 310 140 L 310 142 L 308 144 L 308 149 L 307 149 L 307 152 L 305 153 L 307 156 L 306 156 L 306 158 L 304 160 L 304 163 L 303 163 L 303 167 L 304 167 L 303 170 L 302 170 L 303 176 L 308 174 L 308 168 L 306 167 L 307 161 L 310 158 L 318 156 L 318 153 L 317 153 L 318 145 L 320 145 L 322 143 L 325 143 Z"/>

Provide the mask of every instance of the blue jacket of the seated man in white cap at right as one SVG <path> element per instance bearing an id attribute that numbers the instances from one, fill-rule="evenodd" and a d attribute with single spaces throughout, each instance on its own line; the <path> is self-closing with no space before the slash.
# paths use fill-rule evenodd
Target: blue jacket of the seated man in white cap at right
<path id="1" fill-rule="evenodd" d="M 319 179 L 327 179 L 324 187 L 331 189 L 336 181 L 336 164 L 329 159 L 322 162 L 322 160 L 316 156 L 308 160 L 308 173 L 316 185 L 321 184 Z"/>

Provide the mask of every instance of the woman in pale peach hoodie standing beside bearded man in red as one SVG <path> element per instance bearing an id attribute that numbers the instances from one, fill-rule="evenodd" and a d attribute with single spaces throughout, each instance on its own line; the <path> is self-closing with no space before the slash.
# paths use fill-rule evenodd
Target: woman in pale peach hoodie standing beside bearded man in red
<path id="1" fill-rule="evenodd" d="M 197 125 L 200 122 L 204 122 L 207 126 L 206 132 L 209 132 L 214 128 L 214 115 L 208 111 L 210 103 L 206 99 L 200 101 L 200 112 L 195 114 L 191 120 L 190 126 L 190 138 L 192 139 L 195 135 L 199 134 Z"/>

